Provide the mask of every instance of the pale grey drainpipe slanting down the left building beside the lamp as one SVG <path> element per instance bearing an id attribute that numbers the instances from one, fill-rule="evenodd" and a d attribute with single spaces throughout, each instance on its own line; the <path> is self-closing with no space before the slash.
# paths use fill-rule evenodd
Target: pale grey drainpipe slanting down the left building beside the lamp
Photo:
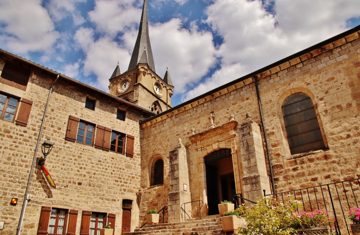
<path id="1" fill-rule="evenodd" d="M 24 214 L 25 214 L 26 205 L 27 205 L 27 202 L 31 200 L 31 196 L 28 195 L 28 194 L 29 194 L 29 188 L 30 188 L 30 183 L 31 183 L 31 177 L 33 176 L 33 170 L 34 170 L 34 166 L 35 166 L 37 148 L 38 148 L 38 146 L 39 146 L 39 142 L 40 142 L 40 138 L 41 138 L 41 133 L 42 133 L 42 128 L 43 128 L 44 122 L 45 122 L 45 115 L 46 115 L 47 107 L 48 107 L 48 105 L 49 105 L 50 96 L 51 96 L 51 92 L 52 92 L 52 87 L 53 87 L 54 83 L 58 80 L 59 76 L 60 76 L 60 75 L 58 74 L 58 76 L 56 77 L 56 79 L 54 80 L 54 82 L 53 82 L 53 83 L 51 84 L 51 86 L 50 86 L 49 97 L 47 98 L 47 102 L 46 102 L 46 106 L 45 106 L 45 111 L 44 111 L 44 116 L 42 117 L 40 132 L 39 132 L 39 135 L 38 135 L 38 137 L 37 137 L 37 143 L 36 143 L 35 153 L 34 153 L 34 157 L 33 157 L 33 164 L 31 165 L 31 169 L 30 169 L 30 173 L 29 173 L 28 184 L 27 184 L 27 186 L 26 186 L 26 191 L 25 191 L 25 196 L 24 196 L 23 207 L 21 208 L 20 220 L 19 220 L 19 225 L 18 225 L 18 227 L 17 227 L 16 235 L 20 235 L 21 227 L 22 227 L 22 225 L 23 225 L 23 220 L 24 220 Z"/>

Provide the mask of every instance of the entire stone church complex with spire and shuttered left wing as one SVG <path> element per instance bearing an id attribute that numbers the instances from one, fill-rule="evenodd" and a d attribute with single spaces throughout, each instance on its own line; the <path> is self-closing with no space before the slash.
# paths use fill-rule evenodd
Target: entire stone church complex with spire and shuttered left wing
<path id="1" fill-rule="evenodd" d="M 0 49 L 0 234 L 120 235 L 153 208 L 175 223 L 360 178 L 360 26 L 175 107 L 172 79 L 147 0 L 108 93 Z"/>

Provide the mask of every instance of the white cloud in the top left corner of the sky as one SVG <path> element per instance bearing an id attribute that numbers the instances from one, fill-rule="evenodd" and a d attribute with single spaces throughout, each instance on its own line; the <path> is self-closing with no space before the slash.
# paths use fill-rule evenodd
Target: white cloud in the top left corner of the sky
<path id="1" fill-rule="evenodd" d="M 46 51 L 59 37 L 41 0 L 1 0 L 0 9 L 0 41 L 14 53 Z"/>

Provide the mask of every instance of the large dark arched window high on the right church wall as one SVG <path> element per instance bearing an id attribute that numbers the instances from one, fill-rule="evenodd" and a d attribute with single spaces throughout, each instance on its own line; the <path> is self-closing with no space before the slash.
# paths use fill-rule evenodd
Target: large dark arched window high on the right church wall
<path id="1" fill-rule="evenodd" d="M 282 105 L 286 134 L 291 154 L 325 147 L 314 104 L 304 93 L 295 93 Z"/>

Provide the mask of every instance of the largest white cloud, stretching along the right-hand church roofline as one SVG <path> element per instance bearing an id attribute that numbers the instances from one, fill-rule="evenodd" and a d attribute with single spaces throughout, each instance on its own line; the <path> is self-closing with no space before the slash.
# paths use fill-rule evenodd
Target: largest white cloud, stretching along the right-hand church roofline
<path id="1" fill-rule="evenodd" d="M 213 31 L 223 38 L 218 54 L 221 67 L 182 96 L 194 98 L 235 78 L 346 30 L 360 15 L 360 1 L 215 0 L 206 9 Z"/>

